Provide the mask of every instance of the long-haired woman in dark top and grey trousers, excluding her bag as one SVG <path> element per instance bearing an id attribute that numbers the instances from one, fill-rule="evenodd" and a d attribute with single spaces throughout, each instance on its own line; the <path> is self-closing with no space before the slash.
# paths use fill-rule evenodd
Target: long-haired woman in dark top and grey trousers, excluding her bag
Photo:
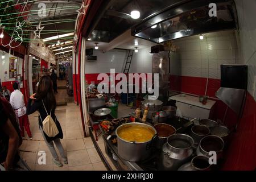
<path id="1" fill-rule="evenodd" d="M 39 111 L 39 129 L 43 135 L 44 141 L 49 148 L 49 151 L 52 154 L 53 163 L 61 167 L 63 166 L 63 164 L 61 164 L 57 156 L 57 152 L 55 150 L 53 142 L 58 148 L 65 164 L 68 164 L 68 159 L 64 153 L 63 146 L 60 142 L 60 138 L 63 138 L 63 131 L 61 130 L 60 123 L 59 121 L 57 121 L 57 118 L 55 116 L 55 109 L 56 100 L 52 89 L 51 78 L 49 76 L 42 76 L 39 81 L 37 92 L 35 94 L 32 94 L 32 96 L 30 96 L 30 100 L 28 101 L 27 114 L 32 114 L 37 110 Z M 59 134 L 57 134 L 55 137 L 48 137 L 47 134 L 43 131 L 43 121 L 47 117 L 47 115 L 51 115 L 53 121 L 55 121 L 56 123 L 57 129 L 59 130 Z"/>

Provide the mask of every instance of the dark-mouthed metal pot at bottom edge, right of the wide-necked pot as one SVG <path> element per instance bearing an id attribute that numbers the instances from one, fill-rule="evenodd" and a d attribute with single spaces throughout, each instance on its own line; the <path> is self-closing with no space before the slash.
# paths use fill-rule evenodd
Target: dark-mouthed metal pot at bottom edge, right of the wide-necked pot
<path id="1" fill-rule="evenodd" d="M 209 171 L 210 164 L 207 156 L 195 156 L 191 162 L 183 164 L 178 171 Z"/>

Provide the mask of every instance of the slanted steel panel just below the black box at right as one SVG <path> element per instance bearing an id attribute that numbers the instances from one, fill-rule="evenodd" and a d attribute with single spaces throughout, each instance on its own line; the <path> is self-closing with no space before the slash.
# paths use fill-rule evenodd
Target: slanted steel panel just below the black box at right
<path id="1" fill-rule="evenodd" d="M 235 113 L 240 114 L 246 90 L 221 87 L 216 97 L 229 106 Z"/>

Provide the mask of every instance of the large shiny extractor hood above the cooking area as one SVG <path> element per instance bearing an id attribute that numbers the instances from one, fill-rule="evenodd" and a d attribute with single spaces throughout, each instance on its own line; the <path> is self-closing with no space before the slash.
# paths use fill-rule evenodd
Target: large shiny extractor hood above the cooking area
<path id="1" fill-rule="evenodd" d="M 214 4 L 216 11 L 212 11 Z M 216 16 L 215 16 L 216 15 Z M 191 0 L 175 1 L 162 13 L 150 16 L 131 28 L 131 34 L 154 43 L 204 34 L 234 30 L 237 28 L 237 12 L 234 1 Z"/>

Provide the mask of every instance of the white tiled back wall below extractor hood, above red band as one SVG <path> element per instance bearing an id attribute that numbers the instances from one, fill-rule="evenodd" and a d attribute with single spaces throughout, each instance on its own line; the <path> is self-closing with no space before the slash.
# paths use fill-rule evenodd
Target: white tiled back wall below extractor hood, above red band
<path id="1" fill-rule="evenodd" d="M 177 73 L 182 76 L 220 79 L 221 64 L 240 60 L 234 31 L 208 33 L 203 40 L 196 35 L 175 40 L 174 44 L 179 47 L 181 72 Z"/>

